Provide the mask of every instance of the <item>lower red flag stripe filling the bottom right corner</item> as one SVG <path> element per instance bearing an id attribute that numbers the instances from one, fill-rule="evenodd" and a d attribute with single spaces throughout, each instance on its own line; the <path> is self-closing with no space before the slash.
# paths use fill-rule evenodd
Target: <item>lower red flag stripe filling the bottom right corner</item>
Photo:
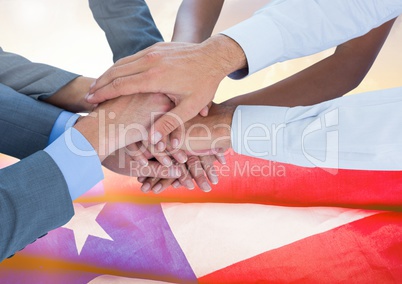
<path id="1" fill-rule="evenodd" d="M 200 283 L 401 283 L 402 214 L 382 213 L 265 252 Z"/>

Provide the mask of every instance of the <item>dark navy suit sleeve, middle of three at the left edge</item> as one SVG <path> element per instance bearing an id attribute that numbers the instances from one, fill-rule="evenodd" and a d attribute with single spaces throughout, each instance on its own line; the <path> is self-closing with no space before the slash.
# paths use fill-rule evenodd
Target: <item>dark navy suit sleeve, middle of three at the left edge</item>
<path id="1" fill-rule="evenodd" d="M 0 84 L 0 152 L 22 159 L 44 149 L 61 111 Z"/>

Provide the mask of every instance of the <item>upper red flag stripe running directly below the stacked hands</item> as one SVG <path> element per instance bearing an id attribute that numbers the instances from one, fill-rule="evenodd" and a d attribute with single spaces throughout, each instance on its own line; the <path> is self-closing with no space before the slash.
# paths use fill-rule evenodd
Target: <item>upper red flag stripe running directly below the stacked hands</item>
<path id="1" fill-rule="evenodd" d="M 111 198 L 129 195 L 137 201 L 151 203 L 244 202 L 373 209 L 395 209 L 402 204 L 401 171 L 339 170 L 332 175 L 319 168 L 301 168 L 239 155 L 229 156 L 228 168 L 229 171 L 222 171 L 226 177 L 221 176 L 219 184 L 209 193 L 169 188 L 159 195 L 142 194 L 135 179 L 111 173 L 104 184 Z M 256 176 L 259 170 L 266 176 Z"/>

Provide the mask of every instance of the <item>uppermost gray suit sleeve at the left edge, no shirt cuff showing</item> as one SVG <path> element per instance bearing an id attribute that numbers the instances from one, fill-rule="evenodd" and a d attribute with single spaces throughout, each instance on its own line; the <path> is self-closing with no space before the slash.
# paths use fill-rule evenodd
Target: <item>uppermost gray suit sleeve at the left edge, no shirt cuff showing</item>
<path id="1" fill-rule="evenodd" d="M 44 99 L 79 75 L 3 51 L 0 48 L 0 83 L 15 91 Z"/>

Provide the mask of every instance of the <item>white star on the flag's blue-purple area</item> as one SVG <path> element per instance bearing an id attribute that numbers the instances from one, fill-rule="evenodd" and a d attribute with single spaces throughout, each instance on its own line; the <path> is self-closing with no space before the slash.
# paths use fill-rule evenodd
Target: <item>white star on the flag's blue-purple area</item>
<path id="1" fill-rule="evenodd" d="M 70 222 L 62 226 L 62 228 L 73 231 L 78 255 L 81 253 L 89 235 L 113 241 L 98 222 L 96 222 L 96 217 L 98 217 L 105 204 L 106 203 L 85 208 L 81 204 L 74 203 L 75 215 Z"/>

